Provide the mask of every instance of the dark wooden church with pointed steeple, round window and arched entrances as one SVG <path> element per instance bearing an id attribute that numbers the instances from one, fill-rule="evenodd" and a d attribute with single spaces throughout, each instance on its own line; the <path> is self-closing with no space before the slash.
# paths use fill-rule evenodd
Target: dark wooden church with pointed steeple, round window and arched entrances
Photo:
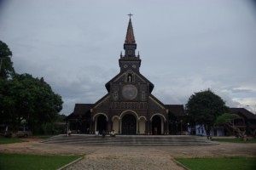
<path id="1" fill-rule="evenodd" d="M 183 105 L 164 105 L 152 93 L 154 84 L 140 73 L 142 59 L 131 17 L 119 56 L 120 71 L 106 83 L 108 94 L 95 104 L 76 104 L 66 121 L 73 132 L 119 134 L 182 134 L 186 131 Z"/>

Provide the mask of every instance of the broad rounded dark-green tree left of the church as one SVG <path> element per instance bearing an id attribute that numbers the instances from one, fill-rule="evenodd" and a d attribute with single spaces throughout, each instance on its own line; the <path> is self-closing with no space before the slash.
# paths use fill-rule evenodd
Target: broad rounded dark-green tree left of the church
<path id="1" fill-rule="evenodd" d="M 26 121 L 29 127 L 54 122 L 62 109 L 61 96 L 52 91 L 44 78 L 15 74 L 5 90 L 3 116 L 15 127 L 22 121 Z"/>

